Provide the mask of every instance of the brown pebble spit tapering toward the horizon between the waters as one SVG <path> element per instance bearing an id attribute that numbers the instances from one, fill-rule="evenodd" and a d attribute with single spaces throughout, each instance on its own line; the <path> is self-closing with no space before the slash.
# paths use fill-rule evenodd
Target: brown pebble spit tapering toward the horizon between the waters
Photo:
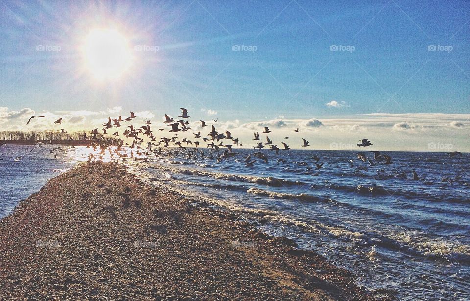
<path id="1" fill-rule="evenodd" d="M 121 165 L 84 163 L 0 219 L 2 298 L 377 300 L 351 272 Z"/>

